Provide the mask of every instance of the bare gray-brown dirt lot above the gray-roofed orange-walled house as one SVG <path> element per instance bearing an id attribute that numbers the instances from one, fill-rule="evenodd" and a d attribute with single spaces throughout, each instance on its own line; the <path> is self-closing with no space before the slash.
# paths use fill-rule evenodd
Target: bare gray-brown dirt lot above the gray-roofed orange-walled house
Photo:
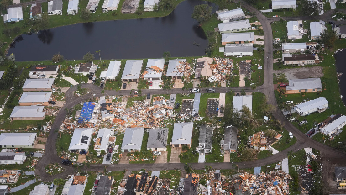
<path id="1" fill-rule="evenodd" d="M 307 79 L 323 77 L 323 67 L 301 67 L 293 69 L 274 70 L 275 74 L 284 73 L 287 79 Z"/>

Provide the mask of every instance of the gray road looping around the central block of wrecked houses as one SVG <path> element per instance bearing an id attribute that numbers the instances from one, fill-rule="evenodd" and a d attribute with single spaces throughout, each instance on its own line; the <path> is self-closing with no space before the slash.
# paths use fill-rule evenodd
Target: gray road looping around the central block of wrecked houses
<path id="1" fill-rule="evenodd" d="M 331 148 L 327 145 L 324 145 L 322 143 L 316 142 L 312 139 L 308 139 L 305 134 L 301 133 L 295 126 L 293 126 L 290 122 L 286 120 L 284 115 L 281 113 L 277 103 L 276 98 L 274 95 L 274 85 L 273 85 L 273 34 L 270 22 L 271 21 L 277 21 L 279 18 L 267 18 L 261 14 L 260 11 L 255 9 L 254 7 L 248 5 L 247 3 L 242 3 L 242 6 L 248 9 L 249 11 L 256 14 L 257 19 L 261 22 L 264 30 L 264 85 L 258 86 L 255 91 L 262 92 L 267 97 L 268 104 L 274 105 L 275 110 L 272 113 L 274 117 L 281 122 L 285 122 L 284 128 L 292 132 L 295 137 L 297 138 L 297 142 L 292 145 L 291 147 L 275 154 L 270 157 L 264 158 L 264 159 L 258 159 L 254 161 L 246 161 L 246 162 L 238 162 L 238 163 L 227 163 L 227 162 L 221 162 L 221 163 L 191 163 L 191 166 L 194 169 L 204 169 L 205 165 L 210 165 L 213 168 L 216 169 L 233 169 L 233 164 L 237 164 L 239 168 L 251 168 L 251 167 L 258 167 L 258 166 L 264 166 L 268 165 L 277 161 L 280 161 L 287 157 L 288 151 L 298 151 L 305 147 L 312 147 L 316 148 L 321 152 L 321 156 L 324 158 L 324 160 L 331 162 L 332 164 L 343 164 L 345 163 L 344 157 L 345 152 L 336 150 L 334 148 Z M 340 11 L 340 10 L 339 10 Z M 345 11 L 345 10 L 341 10 Z M 334 14 L 334 10 L 326 11 L 324 15 L 317 16 L 317 17 L 284 17 L 284 19 L 291 20 L 291 19 L 323 19 L 323 20 L 329 20 L 330 15 Z M 336 22 L 337 24 L 346 24 L 346 21 L 342 22 Z M 45 172 L 45 166 L 48 163 L 53 162 L 61 162 L 61 158 L 57 156 L 56 152 L 56 140 L 58 137 L 58 133 L 55 132 L 55 130 L 59 129 L 62 121 L 65 119 L 66 116 L 66 110 L 65 108 L 72 108 L 76 104 L 79 104 L 89 98 L 92 98 L 92 94 L 95 94 L 95 96 L 104 96 L 104 95 L 130 95 L 129 90 L 120 90 L 120 91 L 108 91 L 106 90 L 104 94 L 101 94 L 101 89 L 98 86 L 95 86 L 93 84 L 82 84 L 82 88 L 88 88 L 90 90 L 90 94 L 87 94 L 82 97 L 74 97 L 73 92 L 77 90 L 77 86 L 71 87 L 65 94 L 66 96 L 66 104 L 61 109 L 61 111 L 57 114 L 55 121 L 51 127 L 51 131 L 48 136 L 48 140 L 46 143 L 46 150 L 39 160 L 39 162 L 36 165 L 35 173 L 43 180 L 45 181 L 52 181 L 54 178 L 65 178 L 67 175 L 72 174 L 74 171 L 73 167 L 70 166 L 64 166 L 66 169 L 65 172 L 53 176 L 49 176 Z M 241 91 L 242 89 L 245 89 L 245 91 L 252 92 L 249 87 L 236 87 L 236 88 L 218 88 L 217 92 L 228 92 L 230 89 L 233 91 Z M 204 89 L 203 89 L 204 90 Z M 175 94 L 175 93 L 186 93 L 186 91 L 183 91 L 181 89 L 172 89 L 172 90 L 142 90 L 142 94 Z M 104 168 L 104 165 L 91 165 L 88 170 L 90 171 L 102 171 Z M 108 170 L 140 170 L 142 168 L 145 168 L 147 170 L 166 170 L 166 169 L 184 169 L 184 163 L 159 163 L 159 164 L 116 164 L 116 165 L 109 165 L 107 168 Z M 325 174 L 327 175 L 327 174 Z"/>

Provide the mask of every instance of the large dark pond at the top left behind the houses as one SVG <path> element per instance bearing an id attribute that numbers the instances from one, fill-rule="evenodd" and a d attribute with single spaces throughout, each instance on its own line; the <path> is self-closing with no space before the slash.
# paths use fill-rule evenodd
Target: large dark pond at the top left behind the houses
<path id="1" fill-rule="evenodd" d="M 203 3 L 183 1 L 166 17 L 79 23 L 21 35 L 9 53 L 17 61 L 49 60 L 58 52 L 65 59 L 80 60 L 85 53 L 99 50 L 102 59 L 162 57 L 165 51 L 172 57 L 203 55 L 207 37 L 191 18 L 193 7 Z M 213 11 L 218 8 L 214 3 L 208 5 Z"/>

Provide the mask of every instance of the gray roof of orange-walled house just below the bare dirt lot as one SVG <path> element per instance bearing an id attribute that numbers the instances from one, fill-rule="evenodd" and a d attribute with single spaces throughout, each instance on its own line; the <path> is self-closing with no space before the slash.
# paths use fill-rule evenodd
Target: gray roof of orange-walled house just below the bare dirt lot
<path id="1" fill-rule="evenodd" d="M 286 90 L 299 90 L 299 89 L 321 89 L 322 83 L 320 78 L 310 79 L 292 79 L 288 80 L 289 86 Z"/>

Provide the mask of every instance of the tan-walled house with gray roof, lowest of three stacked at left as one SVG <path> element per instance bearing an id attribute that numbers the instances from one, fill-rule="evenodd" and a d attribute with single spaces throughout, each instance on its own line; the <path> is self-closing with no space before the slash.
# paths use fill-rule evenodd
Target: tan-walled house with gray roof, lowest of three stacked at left
<path id="1" fill-rule="evenodd" d="M 11 121 L 40 121 L 46 117 L 44 106 L 15 106 L 10 115 Z"/>

